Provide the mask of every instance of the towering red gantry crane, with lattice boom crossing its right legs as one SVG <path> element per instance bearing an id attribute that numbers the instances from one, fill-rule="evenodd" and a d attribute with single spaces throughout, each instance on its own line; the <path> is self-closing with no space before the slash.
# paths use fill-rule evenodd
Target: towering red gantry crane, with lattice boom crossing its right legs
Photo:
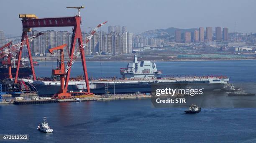
<path id="1" fill-rule="evenodd" d="M 82 41 L 82 32 L 81 32 L 81 17 L 80 17 L 80 9 L 84 8 L 83 6 L 81 7 L 67 7 L 67 8 L 75 8 L 78 10 L 78 15 L 74 17 L 51 17 L 51 18 L 38 18 L 36 15 L 30 14 L 30 15 L 19 15 L 20 18 L 22 18 L 22 25 L 23 25 L 23 33 L 22 33 L 22 38 L 21 41 L 23 41 L 26 37 L 28 37 L 27 32 L 31 28 L 36 28 L 36 27 L 73 27 L 73 35 L 72 35 L 72 41 L 71 41 L 71 47 L 70 47 L 70 52 L 69 52 L 69 61 L 67 63 L 67 68 L 65 70 L 66 73 L 66 79 L 65 79 L 65 86 L 64 89 L 67 90 L 68 87 L 68 81 L 70 78 L 70 72 L 71 72 L 71 66 L 74 63 L 75 59 L 81 56 L 82 59 L 82 67 L 84 71 L 84 79 L 85 79 L 85 84 L 87 87 L 87 92 L 84 92 L 84 94 L 92 94 L 90 92 L 90 86 L 89 86 L 89 79 L 88 79 L 88 74 L 87 74 L 87 67 L 86 67 L 86 60 L 85 60 L 85 55 L 84 55 L 84 48 L 87 44 L 87 42 L 92 38 L 96 30 L 104 25 L 106 22 L 103 22 L 102 24 L 98 25 L 95 27 L 95 30 L 93 30 L 90 35 L 87 37 L 87 41 L 84 43 Z M 75 44 L 78 40 L 79 44 L 79 51 L 75 50 Z M 30 59 L 30 64 L 31 64 L 31 70 L 33 73 L 33 79 L 36 80 L 36 74 L 33 68 L 33 61 L 32 61 L 32 56 L 30 52 L 30 47 L 29 47 L 29 42 L 26 42 L 27 48 L 28 48 L 28 56 Z M 19 55 L 18 55 L 18 63 L 20 62 L 22 54 L 22 48 L 20 49 Z M 19 66 L 19 65 L 18 65 Z M 16 71 L 16 76 L 15 76 L 15 83 L 17 83 L 17 74 L 18 74 L 18 67 Z M 61 95 L 61 94 L 59 94 Z M 66 94 L 67 95 L 67 94 Z M 68 96 L 68 95 L 67 95 Z M 63 97 L 66 97 L 65 95 Z M 61 98 L 61 97 L 60 97 Z"/>

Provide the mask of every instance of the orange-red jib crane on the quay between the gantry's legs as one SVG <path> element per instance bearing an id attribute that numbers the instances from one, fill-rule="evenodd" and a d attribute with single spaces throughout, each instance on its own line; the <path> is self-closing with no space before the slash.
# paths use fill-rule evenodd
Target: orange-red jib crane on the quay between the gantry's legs
<path id="1" fill-rule="evenodd" d="M 63 44 L 59 47 L 54 47 L 49 49 L 49 52 L 51 54 L 54 54 L 55 50 L 60 50 L 60 61 L 59 61 L 59 67 L 57 69 L 52 70 L 53 75 L 59 75 L 60 76 L 60 84 L 61 84 L 61 89 L 57 94 L 54 95 L 55 99 L 65 99 L 65 98 L 70 98 L 71 94 L 67 93 L 67 89 L 64 87 L 64 81 L 65 81 L 65 75 L 67 74 L 65 72 L 65 61 L 64 61 L 64 52 L 63 48 L 67 47 L 67 44 Z"/>

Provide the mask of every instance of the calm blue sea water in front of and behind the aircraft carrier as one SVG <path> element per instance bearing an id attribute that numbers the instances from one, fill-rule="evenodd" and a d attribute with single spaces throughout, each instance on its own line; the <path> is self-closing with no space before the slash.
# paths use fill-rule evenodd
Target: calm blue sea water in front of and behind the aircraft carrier
<path id="1" fill-rule="evenodd" d="M 127 62 L 87 62 L 89 76 L 119 76 Z M 164 75 L 225 75 L 235 83 L 255 83 L 256 61 L 156 62 Z M 49 76 L 56 62 L 40 62 L 37 76 Z M 74 63 L 72 76 L 82 74 Z M 151 99 L 58 104 L 0 105 L 0 134 L 29 134 L 33 143 L 256 142 L 256 108 L 154 108 Z M 54 133 L 41 133 L 47 116 Z M 1 141 L 0 141 L 1 142 Z M 24 141 L 27 142 L 27 141 Z M 20 143 L 20 141 L 18 141 Z"/>

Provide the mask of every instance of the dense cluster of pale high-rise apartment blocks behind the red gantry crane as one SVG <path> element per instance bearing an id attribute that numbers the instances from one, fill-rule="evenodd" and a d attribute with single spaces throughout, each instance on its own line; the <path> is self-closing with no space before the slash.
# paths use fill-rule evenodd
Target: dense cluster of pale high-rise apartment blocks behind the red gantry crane
<path id="1" fill-rule="evenodd" d="M 126 30 L 123 28 L 123 30 Z M 70 49 L 72 32 L 68 31 L 37 31 L 33 30 L 28 32 L 28 37 L 38 34 L 39 32 L 44 33 L 40 37 L 35 38 L 31 45 L 31 53 L 36 56 L 50 56 L 48 49 L 57 47 L 62 44 L 67 44 L 67 49 Z M 82 40 L 86 41 L 88 33 L 82 32 Z M 78 43 L 75 44 L 77 51 L 79 51 Z M 64 54 L 67 55 L 67 49 L 64 49 Z M 104 31 L 98 31 L 87 43 L 84 53 L 86 55 L 97 55 L 97 54 L 131 54 L 132 53 L 132 33 L 123 31 L 113 31 L 106 33 Z M 26 54 L 26 53 L 24 53 Z"/>

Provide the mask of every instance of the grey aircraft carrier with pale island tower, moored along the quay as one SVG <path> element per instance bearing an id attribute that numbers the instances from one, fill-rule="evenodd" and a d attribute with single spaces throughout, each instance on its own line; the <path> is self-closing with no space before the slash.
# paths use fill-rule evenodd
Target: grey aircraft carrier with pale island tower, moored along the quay
<path id="1" fill-rule="evenodd" d="M 222 76 L 184 76 L 184 77 L 161 77 L 161 71 L 156 69 L 156 63 L 150 61 L 138 62 L 136 55 L 132 63 L 126 68 L 120 69 L 123 78 L 90 80 L 90 89 L 95 94 L 108 93 L 134 93 L 151 92 L 151 85 L 157 84 L 183 84 L 187 88 L 215 90 L 222 89 L 228 83 L 228 77 Z M 20 79 L 33 86 L 38 95 L 52 95 L 59 91 L 59 80 Z M 71 80 L 68 83 L 69 92 L 86 91 L 84 80 Z"/>

